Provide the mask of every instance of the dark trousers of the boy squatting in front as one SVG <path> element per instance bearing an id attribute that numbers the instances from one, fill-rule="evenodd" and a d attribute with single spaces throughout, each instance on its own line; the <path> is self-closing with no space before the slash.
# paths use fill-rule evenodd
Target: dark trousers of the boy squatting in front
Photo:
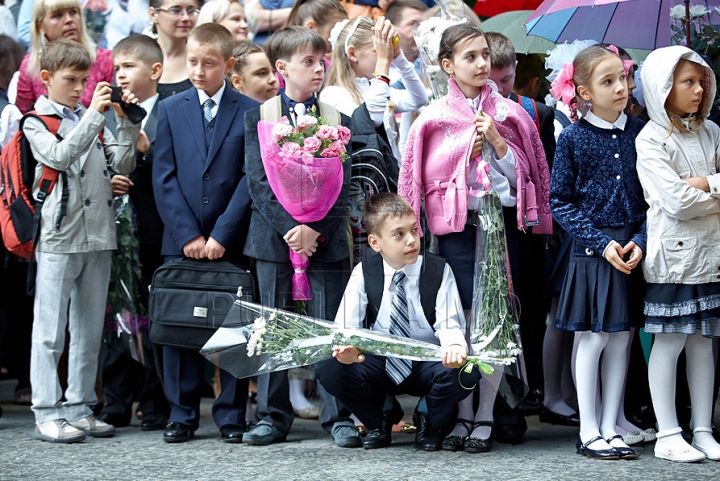
<path id="1" fill-rule="evenodd" d="M 355 364 L 327 359 L 315 365 L 315 375 L 370 430 L 380 428 L 388 394 L 410 394 L 425 396 L 430 424 L 448 432 L 457 404 L 480 380 L 476 368 L 465 373 L 448 369 L 441 362 L 413 361 L 410 375 L 396 385 L 385 371 L 385 357 L 371 354 L 365 355 L 364 362 Z"/>

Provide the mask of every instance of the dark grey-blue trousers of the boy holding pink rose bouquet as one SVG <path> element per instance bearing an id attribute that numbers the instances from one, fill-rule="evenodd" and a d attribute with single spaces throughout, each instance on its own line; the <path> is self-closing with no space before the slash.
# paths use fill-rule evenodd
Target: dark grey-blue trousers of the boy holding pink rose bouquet
<path id="1" fill-rule="evenodd" d="M 346 261 L 322 263 L 310 261 L 307 270 L 313 299 L 308 301 L 308 314 L 320 319 L 334 320 L 343 295 Z M 292 300 L 293 268 L 290 262 L 258 260 L 256 264 L 262 305 L 280 309 L 294 309 Z M 295 414 L 290 403 L 287 371 L 258 376 L 258 414 L 281 433 L 290 432 Z M 318 392 L 324 407 L 320 413 L 322 428 L 330 432 L 337 421 L 349 421 L 350 411 L 343 407 L 318 382 Z"/>

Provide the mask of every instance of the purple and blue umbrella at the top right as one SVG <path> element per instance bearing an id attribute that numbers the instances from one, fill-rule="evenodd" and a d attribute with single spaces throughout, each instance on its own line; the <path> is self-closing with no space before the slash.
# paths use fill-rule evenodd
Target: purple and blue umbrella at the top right
<path id="1" fill-rule="evenodd" d="M 692 0 L 720 23 L 720 0 Z M 553 43 L 597 40 L 626 48 L 654 50 L 670 45 L 670 9 L 684 0 L 545 0 L 525 22 L 528 35 Z"/>

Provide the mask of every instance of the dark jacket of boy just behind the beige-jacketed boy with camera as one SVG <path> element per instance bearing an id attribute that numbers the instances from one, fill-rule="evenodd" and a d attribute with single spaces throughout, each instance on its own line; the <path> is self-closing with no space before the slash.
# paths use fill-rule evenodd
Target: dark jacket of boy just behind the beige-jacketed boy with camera
<path id="1" fill-rule="evenodd" d="M 135 151 L 135 171 L 130 174 L 130 179 L 135 184 L 130 188 L 130 200 L 135 207 L 135 214 L 138 219 L 138 235 L 143 245 L 160 245 L 162 243 L 163 222 L 155 206 L 155 194 L 152 186 L 152 161 L 155 152 L 155 137 L 157 134 L 157 116 L 160 102 L 155 102 L 152 111 L 148 113 L 145 122 L 145 135 L 150 141 L 150 149 L 143 154 Z M 115 135 L 117 120 L 115 112 L 109 109 L 105 112 L 108 119 L 106 127 Z"/>

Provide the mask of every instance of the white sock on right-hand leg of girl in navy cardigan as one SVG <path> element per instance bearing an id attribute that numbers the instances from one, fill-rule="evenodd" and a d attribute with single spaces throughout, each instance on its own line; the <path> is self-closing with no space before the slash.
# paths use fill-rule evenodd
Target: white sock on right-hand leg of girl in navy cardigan
<path id="1" fill-rule="evenodd" d="M 600 434 L 604 439 L 610 439 L 618 434 L 615 426 L 625 387 L 629 337 L 629 331 L 610 333 L 605 349 L 603 349 Z M 627 447 L 621 439 L 615 439 L 610 444 L 615 447 Z"/>

